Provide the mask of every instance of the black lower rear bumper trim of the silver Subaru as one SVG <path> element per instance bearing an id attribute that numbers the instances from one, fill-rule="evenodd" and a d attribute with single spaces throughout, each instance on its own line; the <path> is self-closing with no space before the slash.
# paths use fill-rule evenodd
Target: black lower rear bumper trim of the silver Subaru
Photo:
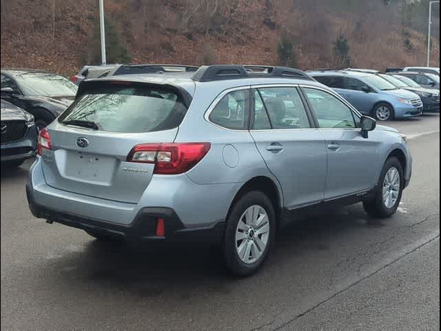
<path id="1" fill-rule="evenodd" d="M 121 225 L 81 217 L 76 214 L 61 212 L 39 205 L 33 197 L 32 188 L 26 185 L 29 208 L 39 219 L 46 219 L 48 223 L 60 223 L 85 231 L 107 234 L 120 237 L 126 241 L 155 241 L 166 243 L 220 243 L 223 239 L 223 221 L 218 221 L 207 228 L 185 228 L 178 215 L 171 208 L 143 208 L 132 223 Z M 156 236 L 158 218 L 164 220 L 165 236 Z"/>

